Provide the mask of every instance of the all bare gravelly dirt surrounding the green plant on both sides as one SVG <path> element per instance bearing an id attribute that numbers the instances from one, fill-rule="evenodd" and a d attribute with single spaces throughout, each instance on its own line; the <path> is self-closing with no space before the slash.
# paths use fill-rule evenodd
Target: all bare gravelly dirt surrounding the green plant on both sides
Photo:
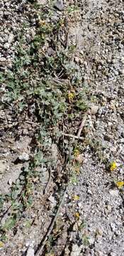
<path id="1" fill-rule="evenodd" d="M 14 36 L 16 37 L 16 29 L 19 33 L 23 21 L 31 24 L 29 35 L 35 33 L 33 10 L 30 13 L 30 7 L 25 2 L 19 3 L 22 4 L 23 9 L 26 8 L 21 15 L 15 11 L 16 1 L 10 2 L 11 5 L 9 1 L 1 1 L 1 6 L 4 6 L 4 12 L 5 9 L 9 11 L 9 14 L 5 14 L 8 22 L 11 22 L 10 16 L 16 12 L 14 14 L 16 27 L 11 24 Z M 72 12 L 68 14 L 67 8 L 70 6 Z M 75 6 L 78 7 L 76 10 Z M 89 110 L 86 112 L 86 121 L 81 132 L 84 142 L 79 141 L 80 146 L 83 144 L 79 152 L 81 169 L 74 171 L 69 178 L 60 215 L 42 255 L 123 256 L 124 190 L 123 186 L 117 185 L 124 180 L 123 1 L 64 1 L 64 9 L 56 12 L 55 19 L 64 16 L 66 20 L 64 26 L 67 30 L 67 48 L 75 46 L 71 61 L 81 71 L 82 89 L 85 87 L 87 90 Z M 1 21 L 4 18 L 1 16 Z M 4 26 L 7 34 L 9 29 L 7 23 Z M 6 43 L 6 35 L 3 36 L 2 32 L 1 38 L 5 39 L 3 39 L 4 43 L 1 40 L 0 58 L 6 58 L 6 61 L 0 59 L 1 70 L 7 70 L 13 65 L 18 39 L 12 43 L 9 50 L 6 50 L 5 55 L 6 47 L 3 45 Z M 6 90 L 4 85 L 2 86 L 1 98 L 4 97 L 3 92 Z M 1 100 L 3 101 L 6 100 Z M 35 144 L 34 137 L 40 124 L 34 117 L 32 102 L 29 105 L 30 117 L 26 112 L 15 116 L 10 106 L 1 107 L 0 110 L 0 193 L 2 195 L 11 193 L 12 185 L 21 174 L 23 181 L 23 169 L 29 168 L 35 147 L 39 146 L 38 143 Z M 80 118 L 82 119 L 83 116 Z M 74 126 L 74 129 L 78 128 L 76 124 Z M 65 141 L 66 139 L 64 137 Z M 31 188 L 33 204 L 30 208 L 23 209 L 16 226 L 8 230 L 8 239 L 3 241 L 2 246 L 0 245 L 2 256 L 28 255 L 29 247 L 33 247 L 31 253 L 36 255 L 40 242 L 43 241 L 50 227 L 59 202 L 58 198 L 62 196 L 60 188 L 65 173 L 59 145 L 57 142 L 50 142 L 48 147 L 51 150 L 50 159 L 55 164 L 50 170 L 45 163 L 35 167 L 35 171 L 41 172 L 41 175 L 40 183 L 37 176 L 30 177 L 30 181 L 33 180 L 33 188 Z M 113 162 L 115 169 L 111 171 L 108 164 Z M 72 163 L 74 164 L 74 161 Z M 52 177 L 50 186 L 44 195 L 50 175 Z M 23 190 L 23 183 L 19 189 Z M 11 215 L 9 206 L 8 201 L 1 211 L 2 225 Z M 6 209 L 8 209 L 7 213 Z M 2 235 L 1 233 L 1 237 Z"/>

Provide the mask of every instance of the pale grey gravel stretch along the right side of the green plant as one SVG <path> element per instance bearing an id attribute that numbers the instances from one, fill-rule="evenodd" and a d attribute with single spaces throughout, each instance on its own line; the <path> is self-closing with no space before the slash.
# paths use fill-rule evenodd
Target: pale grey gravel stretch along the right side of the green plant
<path id="1" fill-rule="evenodd" d="M 82 153 L 79 182 L 68 191 L 69 198 L 79 196 L 79 203 L 68 205 L 67 211 L 78 210 L 89 237 L 89 245 L 84 245 L 79 255 L 124 254 L 123 188 L 114 185 L 124 177 L 122 4 L 86 1 L 84 6 L 81 1 L 75 26 L 69 24 L 69 43 L 77 38 L 84 80 L 94 103 L 85 124 L 91 144 Z M 118 168 L 108 171 L 106 161 L 115 161 Z"/>

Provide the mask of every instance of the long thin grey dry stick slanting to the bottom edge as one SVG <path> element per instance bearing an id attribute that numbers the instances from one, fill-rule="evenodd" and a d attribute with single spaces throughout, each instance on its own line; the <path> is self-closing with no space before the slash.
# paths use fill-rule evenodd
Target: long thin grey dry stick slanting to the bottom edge
<path id="1" fill-rule="evenodd" d="M 67 191 L 67 188 L 65 189 L 64 194 L 63 194 L 63 196 L 62 196 L 62 199 L 61 199 L 61 201 L 60 201 L 60 206 L 57 208 L 57 213 L 55 214 L 55 218 L 53 218 L 52 223 L 50 224 L 50 227 L 49 227 L 48 230 L 47 230 L 47 233 L 46 233 L 45 238 L 44 238 L 44 240 L 43 240 L 43 244 L 42 244 L 42 246 L 39 248 L 39 250 L 35 253 L 35 256 L 42 256 L 43 248 L 45 247 L 45 242 L 47 241 L 47 238 L 49 237 L 50 233 L 52 232 L 52 229 L 54 228 L 55 222 L 56 222 L 56 220 L 57 220 L 57 216 L 58 216 L 59 213 L 60 213 L 60 208 L 61 208 L 62 203 L 63 203 L 63 201 L 64 201 L 64 196 L 65 196 L 66 191 Z"/>

